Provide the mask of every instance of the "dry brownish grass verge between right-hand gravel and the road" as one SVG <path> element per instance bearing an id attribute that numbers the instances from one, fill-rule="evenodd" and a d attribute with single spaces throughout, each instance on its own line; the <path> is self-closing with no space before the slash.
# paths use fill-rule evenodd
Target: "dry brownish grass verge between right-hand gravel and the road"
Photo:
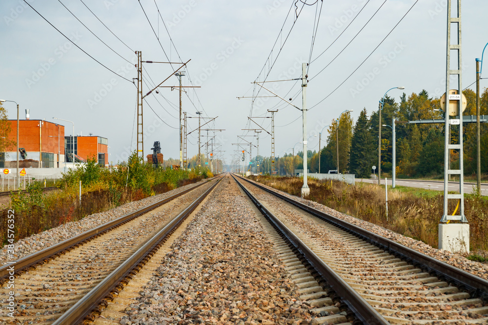
<path id="1" fill-rule="evenodd" d="M 300 196 L 303 179 L 298 177 L 260 176 L 256 179 L 292 195 Z M 444 213 L 442 191 L 397 187 L 388 189 L 386 215 L 385 187 L 370 183 L 349 185 L 340 181 L 308 179 L 308 199 L 371 222 L 405 236 L 438 247 L 438 224 Z M 456 202 L 449 201 L 454 211 Z M 465 194 L 465 215 L 470 225 L 470 250 L 488 250 L 488 199 Z"/>

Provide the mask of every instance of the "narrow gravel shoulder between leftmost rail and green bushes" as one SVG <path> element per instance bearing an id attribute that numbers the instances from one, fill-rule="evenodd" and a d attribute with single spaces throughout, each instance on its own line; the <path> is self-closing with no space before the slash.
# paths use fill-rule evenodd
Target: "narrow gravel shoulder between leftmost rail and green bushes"
<path id="1" fill-rule="evenodd" d="M 167 191 L 162 194 L 150 196 L 139 201 L 125 203 L 120 207 L 107 210 L 104 212 L 100 212 L 100 213 L 90 214 L 79 221 L 68 222 L 59 227 L 55 227 L 43 231 L 41 233 L 23 238 L 15 243 L 15 249 L 14 249 L 15 257 L 16 259 L 18 259 L 23 256 L 27 256 L 29 254 L 40 251 L 41 249 L 45 249 L 52 245 L 56 245 L 84 231 L 93 229 L 104 223 L 120 218 L 124 214 L 127 214 L 135 210 L 139 210 L 147 205 L 155 203 L 159 200 L 162 200 L 166 197 L 169 197 L 171 195 L 184 191 L 190 187 L 193 187 L 197 184 L 200 184 L 201 182 L 206 182 L 206 181 L 207 180 L 202 180 L 198 183 L 188 184 L 180 188 Z M 7 256 L 7 246 L 5 245 L 2 249 L 0 249 L 0 265 L 5 265 L 8 262 L 6 256 Z"/>

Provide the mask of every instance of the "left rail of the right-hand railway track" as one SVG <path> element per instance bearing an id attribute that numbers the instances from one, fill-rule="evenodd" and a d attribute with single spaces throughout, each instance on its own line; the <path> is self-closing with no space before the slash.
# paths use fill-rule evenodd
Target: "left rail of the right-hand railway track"
<path id="1" fill-rule="evenodd" d="M 251 194 L 235 177 L 234 180 L 243 189 L 246 195 L 251 199 L 258 210 L 268 219 L 268 221 L 279 229 L 281 233 L 298 249 L 312 267 L 327 281 L 332 289 L 341 297 L 344 303 L 354 312 L 356 317 L 365 325 L 389 325 L 390 323 L 376 311 L 366 300 L 357 293 L 339 274 L 325 264 L 300 238 L 298 238 L 290 229 L 288 229 L 278 218 L 267 210 L 259 200 Z"/>

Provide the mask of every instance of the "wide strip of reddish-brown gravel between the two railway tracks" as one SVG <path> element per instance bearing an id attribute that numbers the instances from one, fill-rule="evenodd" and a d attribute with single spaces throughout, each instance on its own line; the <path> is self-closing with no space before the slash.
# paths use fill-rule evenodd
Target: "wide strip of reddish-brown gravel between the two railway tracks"
<path id="1" fill-rule="evenodd" d="M 225 177 L 210 195 L 121 324 L 309 324 L 235 182 Z"/>

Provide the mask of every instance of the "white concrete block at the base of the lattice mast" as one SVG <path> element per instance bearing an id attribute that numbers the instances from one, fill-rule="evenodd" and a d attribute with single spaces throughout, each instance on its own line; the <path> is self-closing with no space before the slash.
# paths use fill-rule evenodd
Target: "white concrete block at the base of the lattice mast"
<path id="1" fill-rule="evenodd" d="M 439 249 L 469 253 L 469 225 L 439 224 Z"/>

